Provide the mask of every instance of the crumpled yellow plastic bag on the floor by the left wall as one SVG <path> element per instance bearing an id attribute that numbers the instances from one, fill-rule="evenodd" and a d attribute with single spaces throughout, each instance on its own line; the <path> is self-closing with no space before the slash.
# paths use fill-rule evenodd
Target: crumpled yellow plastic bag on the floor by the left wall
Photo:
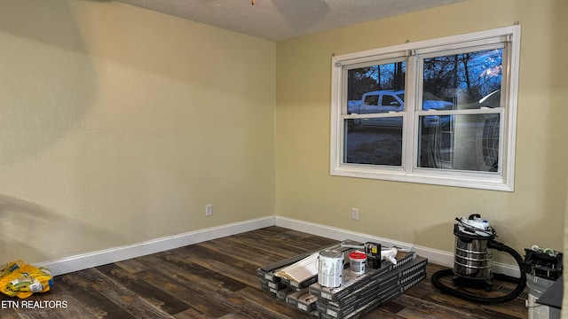
<path id="1" fill-rule="evenodd" d="M 0 268 L 0 292 L 10 297 L 28 298 L 35 292 L 48 292 L 53 277 L 48 268 L 12 261 Z"/>

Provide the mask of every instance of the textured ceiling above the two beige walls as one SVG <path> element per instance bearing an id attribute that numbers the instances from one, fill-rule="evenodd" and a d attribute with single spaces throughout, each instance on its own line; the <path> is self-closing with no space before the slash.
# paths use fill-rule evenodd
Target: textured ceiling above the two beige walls
<path id="1" fill-rule="evenodd" d="M 462 0 L 116 0 L 280 41 Z"/>

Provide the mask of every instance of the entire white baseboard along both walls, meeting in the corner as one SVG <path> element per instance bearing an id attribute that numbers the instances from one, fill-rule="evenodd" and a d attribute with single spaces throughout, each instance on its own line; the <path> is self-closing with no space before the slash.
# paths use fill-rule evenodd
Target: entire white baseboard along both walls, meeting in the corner
<path id="1" fill-rule="evenodd" d="M 372 241 L 386 246 L 397 245 L 401 247 L 413 247 L 414 252 L 418 253 L 422 257 L 428 258 L 430 262 L 446 267 L 454 266 L 454 253 L 444 252 L 420 245 L 398 242 L 388 238 L 374 237 L 351 230 L 343 230 L 317 223 L 304 222 L 279 216 L 268 216 L 245 222 L 235 222 L 208 229 L 195 230 L 169 237 L 148 240 L 133 245 L 124 245 L 92 253 L 83 253 L 57 261 L 41 262 L 38 263 L 37 266 L 49 268 L 53 276 L 59 276 L 77 270 L 98 267 L 116 261 L 124 261 L 131 258 L 145 256 L 151 253 L 160 253 L 170 249 L 183 247 L 185 245 L 193 245 L 207 240 L 236 235 L 250 230 L 259 230 L 274 225 L 287 228 L 289 230 L 303 231 L 306 233 L 336 240 L 351 239 L 363 243 Z M 517 266 L 511 266 L 496 262 L 493 262 L 493 272 L 505 274 L 508 276 L 519 276 L 519 270 Z"/>

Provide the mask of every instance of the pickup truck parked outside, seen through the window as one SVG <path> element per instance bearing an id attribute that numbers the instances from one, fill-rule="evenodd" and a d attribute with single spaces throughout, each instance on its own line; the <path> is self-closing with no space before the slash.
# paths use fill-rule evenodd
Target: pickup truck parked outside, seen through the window
<path id="1" fill-rule="evenodd" d="M 422 109 L 451 109 L 451 102 L 424 100 Z M 376 113 L 398 113 L 405 111 L 405 91 L 404 90 L 376 90 L 363 94 L 360 101 L 349 101 L 347 112 L 349 114 L 376 114 Z M 429 115 L 423 118 L 422 128 L 436 126 L 443 121 L 449 121 L 448 116 L 438 117 Z M 349 129 L 355 127 L 398 127 L 402 128 L 402 116 L 393 114 L 390 117 L 379 118 L 359 118 L 349 121 Z"/>

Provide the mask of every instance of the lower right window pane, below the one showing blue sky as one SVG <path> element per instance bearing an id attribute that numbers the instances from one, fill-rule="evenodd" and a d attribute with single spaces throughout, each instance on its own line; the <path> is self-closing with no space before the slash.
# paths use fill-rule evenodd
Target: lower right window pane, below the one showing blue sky
<path id="1" fill-rule="evenodd" d="M 420 116 L 418 167 L 497 172 L 500 115 Z M 424 123 L 436 123 L 429 125 Z"/>

